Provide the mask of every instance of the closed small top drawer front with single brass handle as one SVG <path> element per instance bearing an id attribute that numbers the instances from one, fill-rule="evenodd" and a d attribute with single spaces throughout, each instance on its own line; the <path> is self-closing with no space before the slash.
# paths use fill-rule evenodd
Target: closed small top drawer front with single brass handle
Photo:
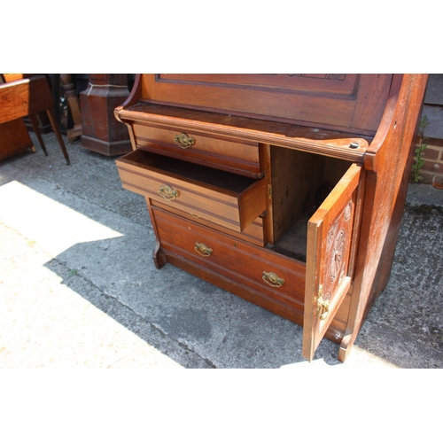
<path id="1" fill-rule="evenodd" d="M 237 143 L 193 133 L 133 124 L 138 149 L 186 159 L 208 167 L 256 177 L 260 175 L 258 144 Z"/>

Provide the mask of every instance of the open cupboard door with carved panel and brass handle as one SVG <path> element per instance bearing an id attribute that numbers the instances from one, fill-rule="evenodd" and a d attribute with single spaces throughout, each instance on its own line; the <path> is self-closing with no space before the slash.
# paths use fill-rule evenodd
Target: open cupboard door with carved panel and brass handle
<path id="1" fill-rule="evenodd" d="M 361 167 L 353 164 L 307 223 L 303 356 L 314 358 L 351 286 L 360 224 Z"/>

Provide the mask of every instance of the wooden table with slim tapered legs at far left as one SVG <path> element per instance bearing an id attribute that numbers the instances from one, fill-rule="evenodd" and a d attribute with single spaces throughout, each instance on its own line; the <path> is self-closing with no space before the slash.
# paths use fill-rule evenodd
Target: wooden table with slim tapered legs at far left
<path id="1" fill-rule="evenodd" d="M 40 74 L 2 74 L 2 77 L 5 82 L 0 84 L 0 124 L 29 117 L 43 153 L 48 155 L 36 120 L 36 114 L 45 111 L 66 164 L 69 165 L 70 159 L 58 129 L 51 89 L 46 77 Z"/>

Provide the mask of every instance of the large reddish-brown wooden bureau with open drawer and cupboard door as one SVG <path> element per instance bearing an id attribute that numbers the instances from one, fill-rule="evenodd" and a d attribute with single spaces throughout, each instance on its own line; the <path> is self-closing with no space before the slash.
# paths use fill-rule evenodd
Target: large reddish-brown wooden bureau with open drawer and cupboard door
<path id="1" fill-rule="evenodd" d="M 385 288 L 427 74 L 137 74 L 115 109 L 157 268 L 323 337 L 345 361 Z"/>

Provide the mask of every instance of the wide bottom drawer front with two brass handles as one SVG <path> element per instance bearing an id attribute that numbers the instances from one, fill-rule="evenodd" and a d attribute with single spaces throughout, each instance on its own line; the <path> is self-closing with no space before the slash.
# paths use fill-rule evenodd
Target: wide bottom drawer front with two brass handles
<path id="1" fill-rule="evenodd" d="M 163 249 L 302 311 L 305 291 L 302 263 L 159 208 L 152 209 Z"/>

